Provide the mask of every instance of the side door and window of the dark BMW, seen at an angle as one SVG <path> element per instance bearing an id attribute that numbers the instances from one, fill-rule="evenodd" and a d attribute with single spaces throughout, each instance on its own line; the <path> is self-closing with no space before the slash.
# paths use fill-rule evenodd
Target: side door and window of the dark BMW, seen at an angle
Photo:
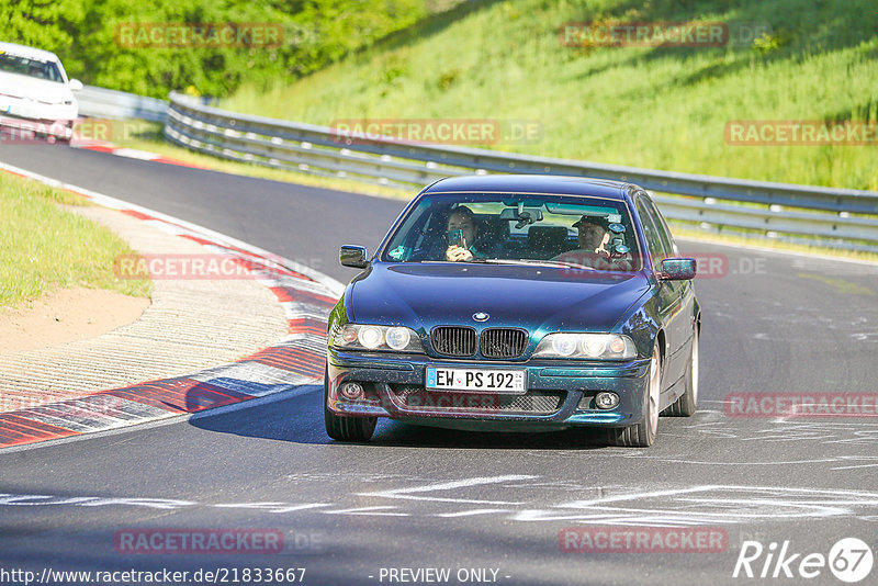
<path id="1" fill-rule="evenodd" d="M 662 260 L 675 255 L 675 245 L 671 239 L 663 218 L 650 200 L 649 195 L 640 192 L 634 205 L 640 215 L 643 233 L 646 237 L 646 249 L 652 260 L 653 270 L 657 273 L 661 269 Z M 664 387 L 668 387 L 677 382 L 684 374 L 686 368 L 686 354 L 683 351 L 688 348 L 690 329 L 684 314 L 684 292 L 689 285 L 688 281 L 657 281 L 657 296 L 660 301 L 660 315 L 665 331 L 665 363 L 664 363 Z"/>

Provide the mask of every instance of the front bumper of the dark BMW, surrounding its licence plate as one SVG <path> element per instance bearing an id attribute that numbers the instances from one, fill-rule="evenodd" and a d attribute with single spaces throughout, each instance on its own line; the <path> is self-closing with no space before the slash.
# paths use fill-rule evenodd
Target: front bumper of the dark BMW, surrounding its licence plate
<path id="1" fill-rule="evenodd" d="M 441 360 L 425 354 L 348 353 L 329 349 L 326 405 L 336 415 L 391 417 L 428 425 L 487 422 L 495 429 L 626 427 L 643 420 L 649 359 L 620 362 L 570 360 Z M 426 391 L 427 367 L 521 369 L 527 393 Z M 362 383 L 367 398 L 339 395 L 345 382 Z M 600 391 L 619 395 L 612 409 L 598 409 Z M 465 426 L 464 426 L 465 427 Z M 480 427 L 480 426 L 474 426 Z M 481 426 L 484 428 L 485 426 Z"/>

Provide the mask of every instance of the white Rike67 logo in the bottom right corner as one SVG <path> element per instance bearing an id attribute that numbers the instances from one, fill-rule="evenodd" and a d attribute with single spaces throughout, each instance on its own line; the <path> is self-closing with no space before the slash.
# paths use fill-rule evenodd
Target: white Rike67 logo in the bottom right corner
<path id="1" fill-rule="evenodd" d="M 822 553 L 797 552 L 789 540 L 764 546 L 758 541 L 744 541 L 734 564 L 732 577 L 813 579 L 829 568 L 842 582 L 855 584 L 870 573 L 874 554 L 869 545 L 857 538 L 841 539 Z"/>

